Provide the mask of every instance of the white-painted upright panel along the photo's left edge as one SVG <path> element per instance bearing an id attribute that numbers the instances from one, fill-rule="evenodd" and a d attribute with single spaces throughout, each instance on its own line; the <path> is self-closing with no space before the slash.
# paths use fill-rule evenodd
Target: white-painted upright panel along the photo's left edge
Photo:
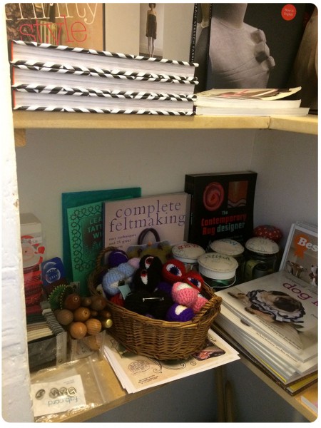
<path id="1" fill-rule="evenodd" d="M 6 40 L 1 8 L 2 41 Z M 2 417 L 6 422 L 33 422 L 26 354 L 26 312 L 16 183 L 14 127 L 6 44 L 1 43 L 1 372 Z"/>

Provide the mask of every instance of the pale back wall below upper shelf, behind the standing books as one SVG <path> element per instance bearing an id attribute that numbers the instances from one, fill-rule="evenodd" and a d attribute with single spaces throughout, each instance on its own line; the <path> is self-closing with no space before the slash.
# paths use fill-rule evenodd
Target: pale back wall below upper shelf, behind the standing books
<path id="1" fill-rule="evenodd" d="M 185 173 L 250 167 L 255 131 L 27 132 L 16 148 L 20 209 L 42 222 L 48 258 L 61 256 L 61 193 L 141 186 L 184 190 Z"/>

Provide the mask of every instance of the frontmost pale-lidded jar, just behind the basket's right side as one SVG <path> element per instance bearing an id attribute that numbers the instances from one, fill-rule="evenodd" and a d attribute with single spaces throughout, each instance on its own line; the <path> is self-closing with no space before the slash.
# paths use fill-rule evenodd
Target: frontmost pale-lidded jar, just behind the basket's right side
<path id="1" fill-rule="evenodd" d="M 214 290 L 235 284 L 238 262 L 229 255 L 205 253 L 198 258 L 198 270 L 207 285 Z"/>

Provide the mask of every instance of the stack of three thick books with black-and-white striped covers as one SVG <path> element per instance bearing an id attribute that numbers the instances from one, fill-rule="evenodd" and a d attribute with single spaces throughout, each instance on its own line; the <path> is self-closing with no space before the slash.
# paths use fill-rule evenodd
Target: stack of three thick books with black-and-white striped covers
<path id="1" fill-rule="evenodd" d="M 194 114 L 196 63 L 9 41 L 14 110 Z"/>

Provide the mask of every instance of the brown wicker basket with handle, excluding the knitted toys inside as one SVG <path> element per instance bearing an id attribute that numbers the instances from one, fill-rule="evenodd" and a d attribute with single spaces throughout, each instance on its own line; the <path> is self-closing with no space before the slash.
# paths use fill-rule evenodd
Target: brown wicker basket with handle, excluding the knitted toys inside
<path id="1" fill-rule="evenodd" d="M 91 295 L 98 295 L 96 287 L 101 282 L 103 273 L 108 270 L 108 266 L 102 262 L 106 253 L 115 249 L 105 248 L 98 255 L 96 269 L 88 278 Z M 154 320 L 108 302 L 107 308 L 113 319 L 108 333 L 138 355 L 157 360 L 186 359 L 203 349 L 210 325 L 220 312 L 222 298 L 216 296 L 207 285 L 203 286 L 202 294 L 208 299 L 208 303 L 188 322 Z"/>

